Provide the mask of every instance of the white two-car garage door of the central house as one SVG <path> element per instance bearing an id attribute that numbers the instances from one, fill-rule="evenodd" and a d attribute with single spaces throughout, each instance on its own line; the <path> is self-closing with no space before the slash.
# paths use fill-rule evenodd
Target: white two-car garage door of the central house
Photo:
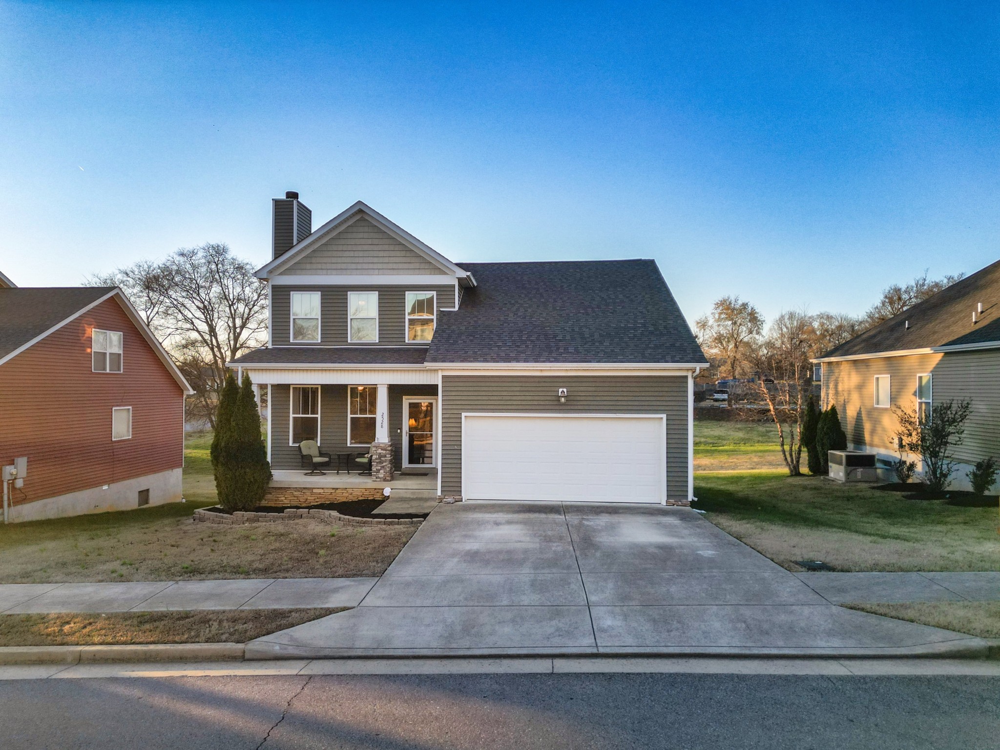
<path id="1" fill-rule="evenodd" d="M 663 503 L 663 415 L 463 414 L 466 500 Z"/>

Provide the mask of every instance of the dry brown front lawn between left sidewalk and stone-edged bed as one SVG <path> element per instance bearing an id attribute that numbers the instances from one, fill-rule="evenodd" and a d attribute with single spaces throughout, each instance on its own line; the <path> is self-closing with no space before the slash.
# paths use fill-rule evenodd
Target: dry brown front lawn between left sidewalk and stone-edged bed
<path id="1" fill-rule="evenodd" d="M 379 576 L 417 528 L 220 526 L 179 507 L 179 518 L 160 506 L 0 529 L 0 583 Z"/>

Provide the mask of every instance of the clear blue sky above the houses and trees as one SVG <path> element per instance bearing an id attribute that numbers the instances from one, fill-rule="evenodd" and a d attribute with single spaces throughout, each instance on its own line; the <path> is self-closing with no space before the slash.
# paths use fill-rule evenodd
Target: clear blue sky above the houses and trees
<path id="1" fill-rule="evenodd" d="M 361 199 L 456 261 L 655 258 L 693 321 L 1000 258 L 996 3 L 0 3 L 0 270 L 268 259 Z"/>

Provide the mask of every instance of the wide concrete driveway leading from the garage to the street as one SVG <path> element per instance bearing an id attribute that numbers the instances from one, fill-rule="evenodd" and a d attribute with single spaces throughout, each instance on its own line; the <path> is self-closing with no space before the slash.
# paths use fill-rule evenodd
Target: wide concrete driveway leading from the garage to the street
<path id="1" fill-rule="evenodd" d="M 361 604 L 248 658 L 469 654 L 905 655 L 969 636 L 832 605 L 686 508 L 436 509 Z"/>

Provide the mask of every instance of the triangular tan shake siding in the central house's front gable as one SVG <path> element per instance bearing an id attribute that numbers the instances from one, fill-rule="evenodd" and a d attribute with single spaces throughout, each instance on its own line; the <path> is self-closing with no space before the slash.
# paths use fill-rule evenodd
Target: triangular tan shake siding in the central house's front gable
<path id="1" fill-rule="evenodd" d="M 344 227 L 281 273 L 285 276 L 448 275 L 446 271 L 364 218 Z"/>

